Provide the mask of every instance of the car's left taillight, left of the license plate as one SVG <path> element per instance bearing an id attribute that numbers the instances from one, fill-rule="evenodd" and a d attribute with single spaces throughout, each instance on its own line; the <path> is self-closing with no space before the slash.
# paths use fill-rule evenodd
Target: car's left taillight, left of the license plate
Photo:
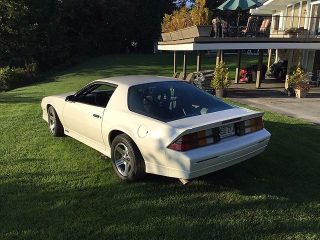
<path id="1" fill-rule="evenodd" d="M 219 127 L 181 136 L 167 148 L 186 151 L 220 141 Z"/>

